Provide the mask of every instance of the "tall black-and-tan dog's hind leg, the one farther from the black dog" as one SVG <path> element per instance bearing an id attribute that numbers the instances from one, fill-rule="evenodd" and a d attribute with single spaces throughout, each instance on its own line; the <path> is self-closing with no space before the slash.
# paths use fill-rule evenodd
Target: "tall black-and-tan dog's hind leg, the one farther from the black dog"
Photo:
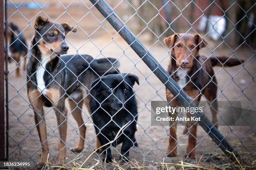
<path id="1" fill-rule="evenodd" d="M 73 100 L 69 99 L 69 107 L 70 107 L 70 110 L 72 111 L 72 115 L 74 119 L 77 121 L 80 137 L 79 137 L 79 142 L 77 147 L 72 148 L 71 151 L 80 153 L 84 149 L 84 139 L 85 139 L 85 133 L 86 133 L 86 126 L 84 125 L 84 120 L 82 118 L 82 105 L 83 105 L 83 101 L 81 101 L 82 95 L 81 97 L 75 98 Z"/>

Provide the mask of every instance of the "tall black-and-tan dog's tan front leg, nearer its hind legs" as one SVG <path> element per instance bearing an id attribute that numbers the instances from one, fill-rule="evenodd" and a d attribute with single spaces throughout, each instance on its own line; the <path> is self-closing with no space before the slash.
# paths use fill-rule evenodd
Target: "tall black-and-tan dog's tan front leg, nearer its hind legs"
<path id="1" fill-rule="evenodd" d="M 45 96 L 53 103 L 54 111 L 57 117 L 59 128 L 59 145 L 57 160 L 59 164 L 63 163 L 66 155 L 66 137 L 67 137 L 67 108 L 65 107 L 65 98 L 60 97 L 59 89 L 49 88 Z"/>

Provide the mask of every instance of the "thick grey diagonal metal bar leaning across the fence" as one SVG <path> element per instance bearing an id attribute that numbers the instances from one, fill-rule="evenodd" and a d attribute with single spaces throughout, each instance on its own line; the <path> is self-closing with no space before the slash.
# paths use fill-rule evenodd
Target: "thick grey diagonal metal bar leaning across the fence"
<path id="1" fill-rule="evenodd" d="M 115 28 L 115 30 L 123 37 L 123 39 L 131 46 L 131 48 L 138 54 L 139 57 L 145 62 L 145 64 L 154 72 L 156 77 L 172 92 L 174 96 L 177 96 L 179 101 L 185 101 L 185 107 L 196 107 L 195 103 L 186 95 L 186 93 L 179 87 L 179 85 L 170 77 L 170 75 L 164 70 L 164 68 L 157 62 L 153 55 L 146 50 L 142 43 L 137 40 L 131 30 L 118 18 L 113 9 L 104 0 L 90 0 L 92 4 L 100 11 L 100 13 L 108 20 L 108 22 Z M 228 144 L 223 135 L 212 125 L 210 120 L 203 114 L 197 112 L 196 117 L 200 117 L 201 121 L 198 123 L 210 135 L 212 140 L 220 147 L 221 150 L 234 161 L 235 158 L 230 156 L 227 152 L 233 152 L 237 158 L 241 158 L 240 155 Z"/>

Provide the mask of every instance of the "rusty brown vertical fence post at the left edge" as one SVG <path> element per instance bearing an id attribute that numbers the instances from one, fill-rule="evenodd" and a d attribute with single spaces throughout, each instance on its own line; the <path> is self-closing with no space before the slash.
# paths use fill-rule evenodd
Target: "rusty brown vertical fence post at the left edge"
<path id="1" fill-rule="evenodd" d="M 3 1 L 0 2 L 0 161 L 5 160 L 5 88 L 4 88 L 4 17 Z"/>

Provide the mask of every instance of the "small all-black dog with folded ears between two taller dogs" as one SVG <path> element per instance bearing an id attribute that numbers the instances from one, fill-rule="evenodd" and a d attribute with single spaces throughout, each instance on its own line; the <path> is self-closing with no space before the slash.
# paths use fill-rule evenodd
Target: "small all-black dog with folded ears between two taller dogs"
<path id="1" fill-rule="evenodd" d="M 123 142 L 121 154 L 122 162 L 128 161 L 131 147 L 137 146 L 135 139 L 136 122 L 138 117 L 137 103 L 133 92 L 133 85 L 138 77 L 133 74 L 112 74 L 95 80 L 92 84 L 92 100 L 90 108 L 92 119 L 101 145 L 114 140 L 120 128 L 131 121 L 120 133 L 112 146 Z M 112 160 L 110 145 L 102 148 L 106 161 Z M 104 157 L 105 158 L 105 157 Z M 103 159 L 105 160 L 105 159 Z"/>

